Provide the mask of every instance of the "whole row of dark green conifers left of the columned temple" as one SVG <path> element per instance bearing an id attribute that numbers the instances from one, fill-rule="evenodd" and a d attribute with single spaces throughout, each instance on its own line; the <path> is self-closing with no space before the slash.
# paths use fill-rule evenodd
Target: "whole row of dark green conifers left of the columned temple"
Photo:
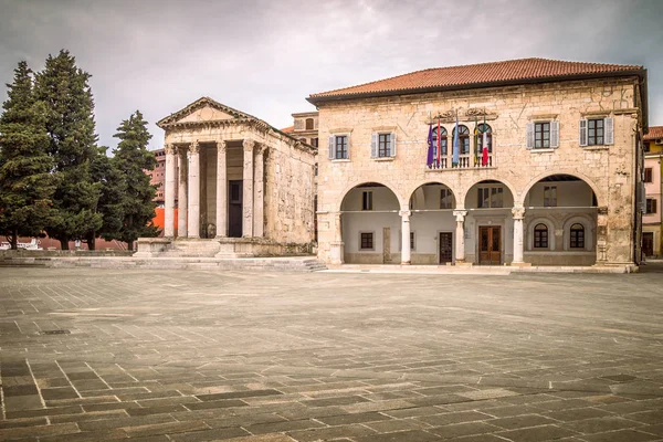
<path id="1" fill-rule="evenodd" d="M 0 234 L 15 250 L 19 236 L 44 232 L 69 250 L 81 240 L 119 240 L 134 250 L 139 236 L 156 236 L 156 186 L 145 170 L 156 166 L 151 135 L 139 110 L 123 120 L 108 147 L 95 133 L 91 75 L 66 50 L 49 55 L 44 70 L 24 61 L 7 84 L 0 115 Z"/>

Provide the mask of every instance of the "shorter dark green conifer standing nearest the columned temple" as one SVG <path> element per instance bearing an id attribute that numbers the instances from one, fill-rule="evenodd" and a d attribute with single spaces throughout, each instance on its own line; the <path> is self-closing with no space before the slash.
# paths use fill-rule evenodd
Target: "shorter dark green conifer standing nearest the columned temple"
<path id="1" fill-rule="evenodd" d="M 124 192 L 122 210 L 123 225 L 118 240 L 134 250 L 134 241 L 140 236 L 156 236 L 159 233 L 154 225 L 156 186 L 150 185 L 146 170 L 152 170 L 157 164 L 155 155 L 147 150 L 151 135 L 147 122 L 139 110 L 129 119 L 122 122 L 114 137 L 119 139 L 113 160 L 123 176 Z"/>

